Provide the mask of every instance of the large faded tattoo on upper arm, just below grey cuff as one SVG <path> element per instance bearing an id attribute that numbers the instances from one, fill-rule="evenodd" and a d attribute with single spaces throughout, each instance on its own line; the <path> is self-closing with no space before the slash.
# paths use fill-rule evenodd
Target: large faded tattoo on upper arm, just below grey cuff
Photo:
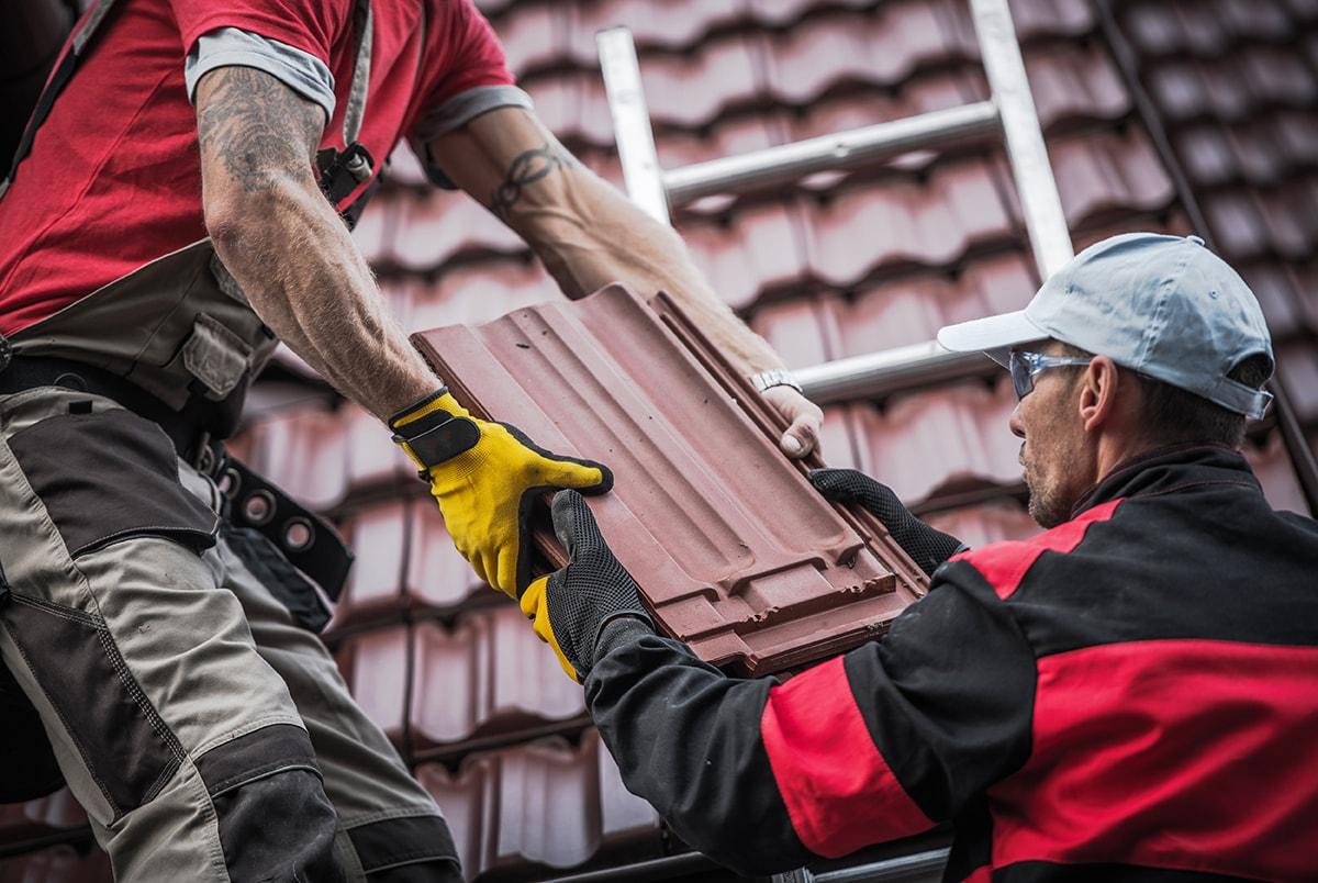
<path id="1" fill-rule="evenodd" d="M 203 161 L 221 162 L 249 194 L 269 192 L 290 171 L 310 171 L 324 124 L 318 105 L 252 67 L 223 67 L 202 83 L 196 116 Z"/>

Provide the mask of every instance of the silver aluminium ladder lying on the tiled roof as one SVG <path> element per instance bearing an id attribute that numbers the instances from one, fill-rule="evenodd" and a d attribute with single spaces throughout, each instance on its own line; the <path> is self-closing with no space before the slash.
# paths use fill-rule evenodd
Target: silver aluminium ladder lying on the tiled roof
<path id="1" fill-rule="evenodd" d="M 816 171 L 849 169 L 912 150 L 999 134 L 1006 141 L 1039 275 L 1046 279 L 1074 252 L 1035 99 L 1025 79 L 1016 29 L 1007 0 L 969 3 L 990 99 L 680 169 L 659 166 L 631 32 L 622 26 L 601 30 L 596 37 L 600 66 L 627 195 L 642 210 L 670 224 L 670 206 L 701 196 L 738 192 Z M 952 353 L 931 340 L 840 358 L 793 373 L 805 395 L 824 403 L 879 397 L 907 386 L 977 373 L 982 368 L 979 353 Z"/>

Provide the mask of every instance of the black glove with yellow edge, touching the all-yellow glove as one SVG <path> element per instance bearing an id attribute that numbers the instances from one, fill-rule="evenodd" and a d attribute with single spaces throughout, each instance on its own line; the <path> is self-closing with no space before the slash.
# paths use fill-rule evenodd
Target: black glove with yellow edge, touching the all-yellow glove
<path id="1" fill-rule="evenodd" d="M 534 580 L 521 605 L 535 634 L 550 644 L 569 676 L 584 681 L 594 666 L 604 626 L 618 617 L 654 622 L 641 605 L 637 581 L 613 556 L 585 498 L 575 490 L 554 497 L 554 532 L 568 554 L 568 565 Z"/>

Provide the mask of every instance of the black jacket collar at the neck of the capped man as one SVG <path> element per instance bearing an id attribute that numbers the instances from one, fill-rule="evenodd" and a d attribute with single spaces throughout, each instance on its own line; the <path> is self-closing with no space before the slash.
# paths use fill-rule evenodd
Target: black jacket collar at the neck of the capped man
<path id="1" fill-rule="evenodd" d="M 1224 444 L 1174 444 L 1145 451 L 1119 464 L 1075 502 L 1072 518 L 1112 499 L 1170 493 L 1203 484 L 1232 484 L 1263 493 L 1239 451 Z"/>

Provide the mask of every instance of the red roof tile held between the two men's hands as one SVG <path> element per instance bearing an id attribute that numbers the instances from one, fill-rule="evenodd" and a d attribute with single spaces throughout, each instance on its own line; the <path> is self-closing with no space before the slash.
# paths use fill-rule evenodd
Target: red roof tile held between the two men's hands
<path id="1" fill-rule="evenodd" d="M 702 658 L 751 671 L 797 664 L 863 639 L 866 622 L 912 597 L 916 571 L 891 547 L 878 547 L 883 557 L 862 548 L 859 525 L 776 449 L 741 372 L 710 376 L 635 295 L 608 289 L 415 340 L 459 401 L 517 414 L 550 449 L 609 463 L 614 490 L 592 501 L 602 530 L 658 619 Z M 683 428 L 693 414 L 699 434 Z M 824 598 L 854 609 L 853 625 L 834 633 L 815 619 Z"/>

